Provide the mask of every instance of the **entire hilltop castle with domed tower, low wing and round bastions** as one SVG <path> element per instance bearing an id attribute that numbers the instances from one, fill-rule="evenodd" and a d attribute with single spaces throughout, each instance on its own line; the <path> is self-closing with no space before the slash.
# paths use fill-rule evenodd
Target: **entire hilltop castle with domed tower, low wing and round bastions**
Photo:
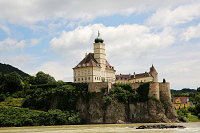
<path id="1" fill-rule="evenodd" d="M 111 66 L 105 53 L 105 43 L 100 37 L 94 41 L 94 53 L 86 54 L 84 59 L 73 68 L 74 82 L 89 83 L 88 91 L 100 92 L 100 88 L 113 88 L 113 83 L 130 84 L 133 89 L 137 89 L 141 83 L 149 82 L 149 97 L 158 100 L 171 102 L 170 84 L 168 82 L 158 82 L 158 72 L 152 65 L 149 72 L 140 74 L 120 74 L 115 75 L 115 69 Z"/>

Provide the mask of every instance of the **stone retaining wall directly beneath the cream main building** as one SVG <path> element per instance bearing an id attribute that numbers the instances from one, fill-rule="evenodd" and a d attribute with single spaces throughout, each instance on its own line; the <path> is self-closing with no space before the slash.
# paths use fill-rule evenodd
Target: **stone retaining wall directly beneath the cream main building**
<path id="1" fill-rule="evenodd" d="M 101 92 L 101 88 L 108 88 L 109 91 L 112 88 L 112 83 L 110 82 L 93 82 L 89 83 L 88 91 L 89 92 Z"/>

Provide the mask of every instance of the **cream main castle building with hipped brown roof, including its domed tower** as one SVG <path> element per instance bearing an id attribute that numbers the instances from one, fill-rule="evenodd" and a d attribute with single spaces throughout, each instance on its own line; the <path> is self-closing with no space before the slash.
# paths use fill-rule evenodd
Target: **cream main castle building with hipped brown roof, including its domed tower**
<path id="1" fill-rule="evenodd" d="M 100 37 L 94 40 L 94 53 L 85 58 L 73 68 L 74 82 L 112 82 L 115 83 L 115 69 L 106 59 L 105 43 Z"/>

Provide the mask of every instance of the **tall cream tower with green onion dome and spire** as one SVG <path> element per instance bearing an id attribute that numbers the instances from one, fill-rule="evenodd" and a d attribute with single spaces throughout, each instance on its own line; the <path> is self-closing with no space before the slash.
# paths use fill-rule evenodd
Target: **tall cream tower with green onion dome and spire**
<path id="1" fill-rule="evenodd" d="M 102 69 L 105 70 L 106 67 L 106 52 L 105 52 L 105 44 L 104 40 L 100 37 L 100 33 L 98 31 L 98 37 L 94 40 L 94 58 L 100 64 Z"/>

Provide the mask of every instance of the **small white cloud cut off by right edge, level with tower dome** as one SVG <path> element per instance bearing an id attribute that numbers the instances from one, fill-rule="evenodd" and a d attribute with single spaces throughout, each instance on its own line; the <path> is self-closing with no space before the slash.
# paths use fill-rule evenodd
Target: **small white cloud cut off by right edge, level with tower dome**
<path id="1" fill-rule="evenodd" d="M 184 41 L 189 41 L 193 38 L 200 38 L 200 24 L 196 26 L 190 26 L 181 35 L 181 39 Z"/>

